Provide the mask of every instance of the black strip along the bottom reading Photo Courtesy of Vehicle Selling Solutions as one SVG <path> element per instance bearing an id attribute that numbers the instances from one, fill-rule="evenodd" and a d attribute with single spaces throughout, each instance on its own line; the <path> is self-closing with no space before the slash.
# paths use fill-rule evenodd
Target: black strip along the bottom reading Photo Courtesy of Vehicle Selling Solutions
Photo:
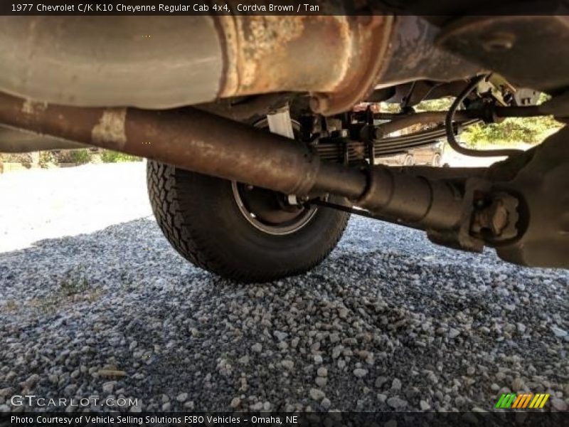
<path id="1" fill-rule="evenodd" d="M 569 413 L 495 412 L 302 412 L 302 413 L 5 413 L 0 426 L 26 427 L 368 427 L 491 426 L 567 427 Z"/>

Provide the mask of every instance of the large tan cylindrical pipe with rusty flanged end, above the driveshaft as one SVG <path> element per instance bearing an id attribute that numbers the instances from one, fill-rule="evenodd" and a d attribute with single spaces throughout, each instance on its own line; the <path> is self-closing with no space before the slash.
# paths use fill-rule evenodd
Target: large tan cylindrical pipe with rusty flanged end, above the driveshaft
<path id="1" fill-rule="evenodd" d="M 344 3 L 329 16 L 0 17 L 0 90 L 148 109 L 308 92 L 319 112 L 346 111 L 373 89 L 394 18 Z"/>

